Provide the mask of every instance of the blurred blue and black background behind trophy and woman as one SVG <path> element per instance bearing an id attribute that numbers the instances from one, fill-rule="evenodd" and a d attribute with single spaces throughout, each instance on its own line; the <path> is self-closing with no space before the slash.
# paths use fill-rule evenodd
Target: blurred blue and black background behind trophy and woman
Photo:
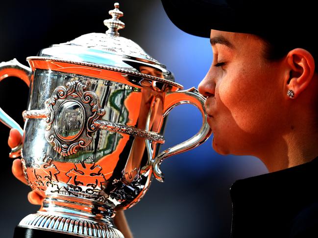
<path id="1" fill-rule="evenodd" d="M 197 87 L 212 62 L 209 39 L 182 32 L 167 17 L 160 0 L 121 0 L 126 28 L 121 36 L 138 43 L 167 65 L 177 83 Z M 109 0 L 10 0 L 0 8 L 0 62 L 25 58 L 53 43 L 64 43 L 90 32 L 104 32 L 110 18 Z M 194 10 L 196 6 L 194 6 Z M 199 9 L 198 9 L 199 10 Z M 196 11 L 189 16 L 199 21 Z M 16 78 L 0 83 L 0 106 L 23 125 L 28 88 Z M 199 111 L 181 105 L 170 113 L 165 130 L 171 147 L 191 137 L 201 126 Z M 11 174 L 9 130 L 0 125 L 0 237 L 12 237 L 15 225 L 39 206 L 27 202 L 30 188 Z M 228 135 L 231 136 L 231 135 Z M 267 173 L 251 156 L 221 156 L 211 147 L 212 136 L 200 147 L 168 158 L 162 164 L 165 183 L 153 180 L 147 195 L 126 216 L 135 238 L 223 238 L 230 236 L 229 188 L 241 178 Z"/>

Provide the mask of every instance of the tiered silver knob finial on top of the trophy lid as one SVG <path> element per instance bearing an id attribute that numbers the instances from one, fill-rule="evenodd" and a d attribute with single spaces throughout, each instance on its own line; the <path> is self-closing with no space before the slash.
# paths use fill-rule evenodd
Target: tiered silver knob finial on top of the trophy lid
<path id="1" fill-rule="evenodd" d="M 125 23 L 119 20 L 123 16 L 122 11 L 119 10 L 119 3 L 115 2 L 114 10 L 110 10 L 108 13 L 112 16 L 111 19 L 104 20 L 104 25 L 108 27 L 106 34 L 111 36 L 119 36 L 118 30 L 125 27 Z"/>

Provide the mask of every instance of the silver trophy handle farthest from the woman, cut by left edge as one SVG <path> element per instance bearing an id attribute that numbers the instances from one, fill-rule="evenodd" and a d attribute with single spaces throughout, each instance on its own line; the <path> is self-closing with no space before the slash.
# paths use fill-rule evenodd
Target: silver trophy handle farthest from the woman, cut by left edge
<path id="1" fill-rule="evenodd" d="M 0 82 L 2 79 L 14 76 L 22 79 L 27 84 L 27 86 L 29 86 L 31 75 L 32 70 L 29 67 L 20 64 L 16 59 L 0 63 Z M 5 113 L 2 108 L 0 108 L 0 121 L 9 128 L 18 129 L 20 134 L 23 135 L 23 129 L 20 127 L 20 125 L 7 113 Z M 21 146 L 18 146 L 12 149 L 10 157 L 18 157 L 20 156 L 20 153 Z"/>

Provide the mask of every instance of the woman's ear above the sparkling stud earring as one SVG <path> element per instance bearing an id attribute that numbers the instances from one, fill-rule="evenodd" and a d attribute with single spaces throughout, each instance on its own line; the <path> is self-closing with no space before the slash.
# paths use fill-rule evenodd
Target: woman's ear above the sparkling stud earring
<path id="1" fill-rule="evenodd" d="M 287 64 L 290 67 L 290 75 L 286 82 L 287 91 L 292 90 L 293 98 L 296 98 L 307 88 L 313 78 L 315 60 L 307 50 L 295 48 L 287 54 Z"/>

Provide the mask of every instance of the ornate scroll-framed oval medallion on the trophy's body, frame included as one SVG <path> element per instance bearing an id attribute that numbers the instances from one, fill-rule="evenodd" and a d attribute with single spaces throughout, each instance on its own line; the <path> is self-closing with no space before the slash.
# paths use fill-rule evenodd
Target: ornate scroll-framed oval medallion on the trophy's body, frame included
<path id="1" fill-rule="evenodd" d="M 68 82 L 66 87 L 56 87 L 48 102 L 46 138 L 63 156 L 87 147 L 97 129 L 94 122 L 105 114 L 98 96 L 85 89 L 86 85 L 79 81 Z"/>

